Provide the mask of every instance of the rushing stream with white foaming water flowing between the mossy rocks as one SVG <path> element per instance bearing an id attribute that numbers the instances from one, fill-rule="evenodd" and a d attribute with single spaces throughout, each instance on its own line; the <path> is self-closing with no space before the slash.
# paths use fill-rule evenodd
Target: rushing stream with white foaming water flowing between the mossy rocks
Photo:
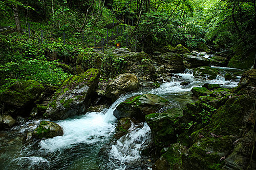
<path id="1" fill-rule="evenodd" d="M 217 68 L 217 67 L 215 67 Z M 217 68 L 224 75 L 230 68 Z M 191 70 L 177 74 L 181 78 L 172 78 L 159 88 L 144 88 L 137 92 L 122 95 L 109 109 L 102 112 L 88 112 L 56 121 L 64 130 L 64 136 L 51 139 L 28 140 L 31 133 L 41 120 L 30 120 L 22 126 L 0 133 L 0 169 L 4 170 L 143 170 L 149 169 L 148 158 L 141 154 L 151 141 L 149 126 L 142 123 L 127 136 L 113 142 L 116 118 L 113 111 L 116 106 L 128 97 L 136 94 L 153 93 L 171 102 L 171 108 L 182 112 L 187 102 L 193 102 L 191 89 L 205 83 L 220 84 L 222 87 L 235 87 L 239 81 L 225 81 L 218 76 L 216 80 L 194 78 Z M 182 86 L 183 81 L 191 84 Z M 106 149 L 108 148 L 108 149 Z M 107 153 L 107 156 L 101 154 Z M 106 160 L 106 158 L 108 160 Z"/>

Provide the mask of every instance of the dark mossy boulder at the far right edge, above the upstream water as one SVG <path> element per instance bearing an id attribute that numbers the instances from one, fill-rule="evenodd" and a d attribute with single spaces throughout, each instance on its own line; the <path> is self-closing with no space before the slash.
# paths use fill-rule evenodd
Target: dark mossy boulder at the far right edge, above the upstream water
<path id="1" fill-rule="evenodd" d="M 255 60 L 255 51 L 251 51 L 244 55 L 244 51 L 240 50 L 230 59 L 228 67 L 246 69 L 251 68 Z"/>

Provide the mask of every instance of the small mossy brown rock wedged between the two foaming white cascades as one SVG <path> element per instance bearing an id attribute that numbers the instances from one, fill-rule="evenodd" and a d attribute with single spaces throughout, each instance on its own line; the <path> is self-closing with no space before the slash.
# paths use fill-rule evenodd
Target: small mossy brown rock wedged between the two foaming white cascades
<path id="1" fill-rule="evenodd" d="M 117 122 L 117 133 L 115 133 L 114 137 L 119 139 L 120 137 L 126 135 L 128 133 L 128 129 L 131 127 L 131 119 L 130 118 L 122 118 Z"/>

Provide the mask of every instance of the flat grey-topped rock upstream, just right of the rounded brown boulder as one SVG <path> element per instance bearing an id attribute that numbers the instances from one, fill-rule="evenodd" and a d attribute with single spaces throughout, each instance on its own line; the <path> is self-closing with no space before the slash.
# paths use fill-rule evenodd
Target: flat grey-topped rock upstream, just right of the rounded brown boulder
<path id="1" fill-rule="evenodd" d="M 189 54 L 185 54 L 182 56 L 184 60 L 189 62 L 191 64 L 191 68 L 197 68 L 201 66 L 208 66 L 210 67 L 210 60 L 205 57 L 200 57 L 200 56 L 193 56 Z"/>

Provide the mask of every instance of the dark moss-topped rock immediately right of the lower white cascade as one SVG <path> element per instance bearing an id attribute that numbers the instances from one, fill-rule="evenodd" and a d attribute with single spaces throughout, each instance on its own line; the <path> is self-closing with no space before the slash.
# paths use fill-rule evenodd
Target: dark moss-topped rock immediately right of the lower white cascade
<path id="1" fill-rule="evenodd" d="M 176 116 L 176 114 L 170 113 L 153 113 L 146 115 L 146 122 L 150 127 L 154 143 L 157 147 L 167 147 L 177 140 L 179 130 L 174 124 Z"/>

